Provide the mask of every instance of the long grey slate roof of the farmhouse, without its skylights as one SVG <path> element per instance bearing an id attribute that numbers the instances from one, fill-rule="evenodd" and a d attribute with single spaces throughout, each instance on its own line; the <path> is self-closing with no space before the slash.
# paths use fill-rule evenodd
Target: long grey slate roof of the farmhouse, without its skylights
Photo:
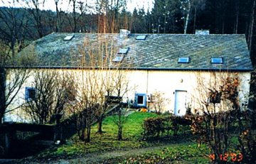
<path id="1" fill-rule="evenodd" d="M 67 35 L 75 36 L 63 40 Z M 105 58 L 106 52 L 112 52 L 114 58 L 119 48 L 129 47 L 123 62 L 132 63 L 134 69 L 252 70 L 245 35 L 145 34 L 146 40 L 136 40 L 137 35 L 142 34 L 120 38 L 118 33 L 51 33 L 33 43 L 39 59 L 35 66 L 87 67 L 85 60 L 92 54 Z M 189 57 L 190 62 L 178 63 L 179 57 Z M 223 58 L 223 64 L 211 64 L 216 57 Z M 111 64 L 109 60 L 107 65 Z"/>

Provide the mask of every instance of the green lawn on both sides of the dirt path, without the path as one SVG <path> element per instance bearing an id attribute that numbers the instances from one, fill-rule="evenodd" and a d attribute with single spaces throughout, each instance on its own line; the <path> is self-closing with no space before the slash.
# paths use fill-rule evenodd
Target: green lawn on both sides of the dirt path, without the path
<path id="1" fill-rule="evenodd" d="M 86 156 L 88 153 L 102 153 L 110 151 L 129 151 L 129 156 L 107 159 L 110 163 L 149 163 L 154 162 L 188 162 L 188 163 L 208 163 L 206 158 L 208 149 L 206 147 L 198 148 L 191 136 L 177 136 L 157 141 L 142 141 L 142 123 L 149 117 L 157 116 L 154 113 L 134 112 L 129 115 L 127 123 L 124 125 L 124 141 L 117 141 L 117 126 L 113 123 L 113 117 L 107 117 L 103 122 L 103 131 L 98 134 L 97 125 L 92 127 L 92 138 L 90 143 L 79 141 L 76 136 L 70 139 L 66 144 L 58 148 L 53 148 L 41 153 L 43 158 L 76 158 Z M 158 147 L 159 148 L 158 148 Z M 147 150 L 147 148 L 149 150 Z M 154 149 L 156 148 L 156 149 Z M 140 149 L 145 151 L 136 152 Z M 133 152 L 134 151 L 134 152 Z M 202 153 L 203 152 L 203 153 Z"/>

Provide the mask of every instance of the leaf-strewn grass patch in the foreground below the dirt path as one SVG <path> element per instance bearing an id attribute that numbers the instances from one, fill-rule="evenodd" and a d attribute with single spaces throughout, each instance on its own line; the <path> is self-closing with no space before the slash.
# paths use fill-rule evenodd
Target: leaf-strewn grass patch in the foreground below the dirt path
<path id="1" fill-rule="evenodd" d="M 204 152 L 204 153 L 202 153 Z M 107 163 L 209 163 L 206 146 L 198 148 L 196 143 L 178 143 L 157 151 L 149 151 L 128 158 L 112 158 Z"/>

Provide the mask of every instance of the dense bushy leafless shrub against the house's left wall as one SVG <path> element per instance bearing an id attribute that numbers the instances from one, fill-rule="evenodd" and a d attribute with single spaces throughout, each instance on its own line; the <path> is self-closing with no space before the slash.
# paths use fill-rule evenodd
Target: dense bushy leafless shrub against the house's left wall
<path id="1" fill-rule="evenodd" d="M 73 79 L 68 73 L 54 70 L 37 71 L 34 78 L 35 95 L 23 107 L 33 122 L 50 123 L 53 115 L 65 114 L 65 105 L 73 101 Z"/>

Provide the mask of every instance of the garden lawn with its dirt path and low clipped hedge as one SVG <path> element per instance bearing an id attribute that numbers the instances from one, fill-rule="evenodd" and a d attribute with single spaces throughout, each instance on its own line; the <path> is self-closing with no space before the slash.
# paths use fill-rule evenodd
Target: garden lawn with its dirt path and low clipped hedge
<path id="1" fill-rule="evenodd" d="M 222 163 L 247 163 L 235 131 L 230 133 L 227 153 L 215 157 L 213 148 L 193 133 L 194 116 L 130 111 L 121 141 L 115 116 L 104 119 L 102 133 L 97 133 L 97 124 L 92 126 L 90 142 L 81 141 L 76 134 L 65 144 L 18 163 L 212 163 L 216 158 Z"/>

